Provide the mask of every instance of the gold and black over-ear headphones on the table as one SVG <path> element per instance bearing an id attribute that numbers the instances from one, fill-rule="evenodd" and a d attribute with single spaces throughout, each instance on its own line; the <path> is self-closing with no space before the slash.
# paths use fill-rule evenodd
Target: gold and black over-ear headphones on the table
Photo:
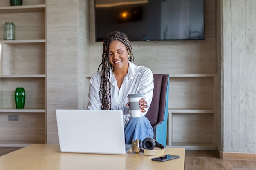
<path id="1" fill-rule="evenodd" d="M 153 150 L 154 148 L 160 148 L 161 150 Z M 143 148 L 143 149 L 142 149 Z M 158 143 L 151 137 L 145 138 L 142 142 L 140 139 L 132 140 L 132 151 L 135 153 L 143 153 L 144 155 L 162 155 L 164 154 L 164 145 Z"/>

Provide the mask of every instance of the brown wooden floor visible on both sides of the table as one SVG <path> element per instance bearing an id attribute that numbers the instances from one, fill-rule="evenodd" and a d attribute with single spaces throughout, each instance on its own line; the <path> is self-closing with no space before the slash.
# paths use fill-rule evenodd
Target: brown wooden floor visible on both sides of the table
<path id="1" fill-rule="evenodd" d="M 18 149 L 0 147 L 0 156 Z M 256 170 L 256 160 L 219 159 L 216 150 L 186 150 L 184 170 Z"/>

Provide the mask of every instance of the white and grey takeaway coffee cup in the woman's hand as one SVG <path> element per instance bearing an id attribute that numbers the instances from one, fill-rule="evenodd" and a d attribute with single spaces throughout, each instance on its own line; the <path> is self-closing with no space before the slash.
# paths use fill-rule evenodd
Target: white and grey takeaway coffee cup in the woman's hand
<path id="1" fill-rule="evenodd" d="M 141 94 L 128 94 L 130 116 L 131 117 L 141 117 L 141 108 L 140 108 L 140 99 L 142 98 Z"/>

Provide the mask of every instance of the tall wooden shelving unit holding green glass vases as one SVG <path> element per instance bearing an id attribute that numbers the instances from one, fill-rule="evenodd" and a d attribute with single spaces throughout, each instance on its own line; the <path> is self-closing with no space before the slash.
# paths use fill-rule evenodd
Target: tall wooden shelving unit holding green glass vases
<path id="1" fill-rule="evenodd" d="M 22 6 L 0 2 L 1 24 L 16 25 L 16 40 L 3 40 L 0 27 L 0 146 L 46 143 L 46 1 L 27 0 Z M 24 87 L 25 108 L 16 109 L 14 91 Z M 18 115 L 18 121 L 8 121 Z"/>

